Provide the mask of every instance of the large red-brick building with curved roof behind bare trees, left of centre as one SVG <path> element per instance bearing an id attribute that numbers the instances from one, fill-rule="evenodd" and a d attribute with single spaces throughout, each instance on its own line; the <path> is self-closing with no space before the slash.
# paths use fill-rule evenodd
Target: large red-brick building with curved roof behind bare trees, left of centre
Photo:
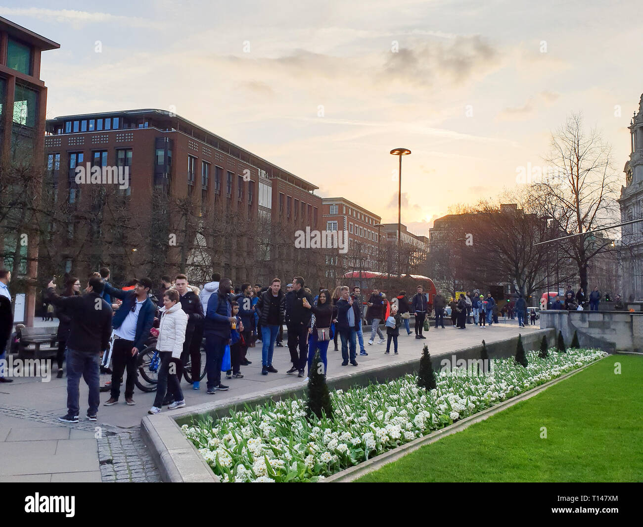
<path id="1" fill-rule="evenodd" d="M 109 264 L 120 280 L 186 271 L 203 283 L 212 270 L 235 284 L 268 280 L 292 254 L 293 231 L 320 226 L 318 187 L 169 111 L 61 116 L 46 132 L 53 201 L 68 224 L 58 236 L 74 242 L 55 245 L 66 272 Z M 93 167 L 127 172 L 127 185 L 79 182 Z M 79 250 L 89 240 L 101 243 Z"/>

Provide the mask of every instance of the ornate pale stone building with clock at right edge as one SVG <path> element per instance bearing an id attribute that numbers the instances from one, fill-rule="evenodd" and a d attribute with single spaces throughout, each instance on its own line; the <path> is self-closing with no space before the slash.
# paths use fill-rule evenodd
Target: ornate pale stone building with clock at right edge
<path id="1" fill-rule="evenodd" d="M 643 95 L 638 112 L 629 123 L 631 153 L 625 163 L 625 186 L 620 187 L 620 221 L 643 218 Z M 643 221 L 620 228 L 620 263 L 622 265 L 622 297 L 643 299 Z"/>

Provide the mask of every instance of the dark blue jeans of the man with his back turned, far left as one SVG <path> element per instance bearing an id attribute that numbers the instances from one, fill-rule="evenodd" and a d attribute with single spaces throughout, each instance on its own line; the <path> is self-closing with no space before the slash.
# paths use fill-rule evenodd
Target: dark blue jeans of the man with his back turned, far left
<path id="1" fill-rule="evenodd" d="M 100 380 L 98 371 L 100 354 L 96 352 L 78 351 L 67 347 L 67 409 L 70 416 L 80 415 L 80 376 L 89 387 L 87 398 L 87 415 L 95 416 L 100 404 Z"/>

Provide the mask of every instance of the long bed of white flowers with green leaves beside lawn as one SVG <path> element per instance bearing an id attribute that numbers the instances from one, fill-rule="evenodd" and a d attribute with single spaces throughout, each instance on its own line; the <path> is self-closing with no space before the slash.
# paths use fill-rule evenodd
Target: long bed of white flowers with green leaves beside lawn
<path id="1" fill-rule="evenodd" d="M 440 373 L 430 392 L 412 375 L 337 390 L 331 392 L 334 420 L 309 423 L 304 401 L 288 399 L 181 428 L 221 481 L 320 481 L 606 355 L 552 349 L 538 358 L 530 351 L 526 368 L 513 358 L 495 360 L 493 375 L 455 368 Z"/>

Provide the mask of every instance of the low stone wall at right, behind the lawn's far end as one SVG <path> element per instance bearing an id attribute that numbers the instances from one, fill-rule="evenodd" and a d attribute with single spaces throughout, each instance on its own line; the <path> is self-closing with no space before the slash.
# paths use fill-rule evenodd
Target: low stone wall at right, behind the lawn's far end
<path id="1" fill-rule="evenodd" d="M 643 312 L 561 311 L 540 312 L 541 329 L 563 333 L 568 344 L 577 332 L 581 347 L 597 347 L 608 353 L 643 349 Z"/>

